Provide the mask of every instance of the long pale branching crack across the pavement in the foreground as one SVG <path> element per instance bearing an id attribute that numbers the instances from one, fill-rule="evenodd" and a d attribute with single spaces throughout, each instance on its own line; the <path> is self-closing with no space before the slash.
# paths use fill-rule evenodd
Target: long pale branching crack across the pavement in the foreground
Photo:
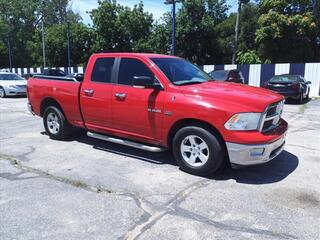
<path id="1" fill-rule="evenodd" d="M 27 154 L 30 154 L 30 153 L 27 152 L 19 156 L 21 157 Z M 10 155 L 5 155 L 0 153 L 0 160 L 1 159 L 9 161 L 13 167 L 20 169 L 23 173 L 27 173 L 27 172 L 34 173 L 40 177 L 49 178 L 55 181 L 72 185 L 74 187 L 91 191 L 94 193 L 107 193 L 115 196 L 126 196 L 133 199 L 137 207 L 143 211 L 143 214 L 140 216 L 136 224 L 133 227 L 131 227 L 131 229 L 128 232 L 126 232 L 123 236 L 121 236 L 119 239 L 134 240 L 139 238 L 145 231 L 147 231 L 152 226 L 154 226 L 165 215 L 181 216 L 187 219 L 191 219 L 193 221 L 212 225 L 216 228 L 227 230 L 227 231 L 245 232 L 245 233 L 251 233 L 251 234 L 258 234 L 258 235 L 263 234 L 263 235 L 279 237 L 283 239 L 296 239 L 295 236 L 289 235 L 289 234 L 274 233 L 268 230 L 262 230 L 262 229 L 250 228 L 250 227 L 238 227 L 234 225 L 217 222 L 205 216 L 202 216 L 200 214 L 181 208 L 180 204 L 190 194 L 199 190 L 200 188 L 203 188 L 208 186 L 209 184 L 212 184 L 212 181 L 209 179 L 202 179 L 200 181 L 192 183 L 191 185 L 188 185 L 186 188 L 184 188 L 179 193 L 177 193 L 173 198 L 171 198 L 167 203 L 163 204 L 160 207 L 154 207 L 152 206 L 152 204 L 148 203 L 142 197 L 140 197 L 137 193 L 134 193 L 134 192 L 116 192 L 108 188 L 105 188 L 103 186 L 90 186 L 87 183 L 79 180 L 72 180 L 67 177 L 56 176 L 40 169 L 22 165 L 18 157 L 15 157 L 15 156 L 10 156 Z M 16 175 L 19 176 L 21 174 L 22 173 L 17 173 Z M 14 179 L 15 176 L 9 176 L 7 173 L 2 173 L 2 177 L 9 178 L 9 179 L 11 178 L 12 180 Z M 22 179 L 20 178 L 20 180 Z"/>

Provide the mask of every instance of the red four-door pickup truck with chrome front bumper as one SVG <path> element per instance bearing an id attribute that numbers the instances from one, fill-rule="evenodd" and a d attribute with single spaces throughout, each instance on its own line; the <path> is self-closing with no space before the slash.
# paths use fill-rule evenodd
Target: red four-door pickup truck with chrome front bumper
<path id="1" fill-rule="evenodd" d="M 211 80 L 167 55 L 93 54 L 83 79 L 33 76 L 29 110 L 52 139 L 73 126 L 89 137 L 158 152 L 172 149 L 181 169 L 210 175 L 268 162 L 283 149 L 284 98 L 269 90 Z"/>

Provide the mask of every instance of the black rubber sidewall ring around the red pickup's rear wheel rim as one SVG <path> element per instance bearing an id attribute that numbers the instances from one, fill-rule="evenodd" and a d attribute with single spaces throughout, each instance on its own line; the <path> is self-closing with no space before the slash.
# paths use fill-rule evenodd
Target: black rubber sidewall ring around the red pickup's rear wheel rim
<path id="1" fill-rule="evenodd" d="M 58 121 L 59 121 L 59 131 L 56 134 L 53 134 L 49 131 L 49 127 L 47 125 L 47 117 L 50 113 L 54 113 L 57 117 L 58 117 Z M 57 107 L 54 106 L 50 106 L 48 107 L 43 115 L 43 125 L 44 128 L 47 132 L 47 134 L 49 135 L 50 138 L 55 139 L 55 140 L 60 140 L 65 138 L 68 135 L 68 123 L 66 121 L 66 118 L 64 117 L 63 113 L 61 112 L 61 110 Z"/>

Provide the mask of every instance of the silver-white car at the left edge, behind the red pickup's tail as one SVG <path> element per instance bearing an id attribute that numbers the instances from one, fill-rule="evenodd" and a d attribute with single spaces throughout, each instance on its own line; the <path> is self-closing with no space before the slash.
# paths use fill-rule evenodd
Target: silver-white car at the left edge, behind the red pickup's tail
<path id="1" fill-rule="evenodd" d="M 0 72 L 0 98 L 27 94 L 27 81 L 18 74 Z"/>

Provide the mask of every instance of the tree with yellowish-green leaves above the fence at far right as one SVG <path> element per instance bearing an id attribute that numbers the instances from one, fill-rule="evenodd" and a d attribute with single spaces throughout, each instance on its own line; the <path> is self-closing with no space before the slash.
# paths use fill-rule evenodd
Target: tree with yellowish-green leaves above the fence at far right
<path id="1" fill-rule="evenodd" d="M 256 43 L 272 62 L 320 60 L 319 28 L 309 0 L 262 0 Z"/>

